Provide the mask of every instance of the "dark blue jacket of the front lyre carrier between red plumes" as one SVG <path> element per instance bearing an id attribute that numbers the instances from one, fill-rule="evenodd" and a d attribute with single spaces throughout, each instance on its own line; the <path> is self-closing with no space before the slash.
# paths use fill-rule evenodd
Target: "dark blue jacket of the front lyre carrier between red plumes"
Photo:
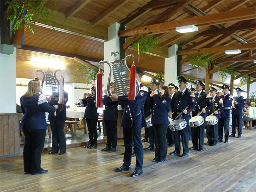
<path id="1" fill-rule="evenodd" d="M 146 88 L 148 89 L 148 88 Z M 130 106 L 130 112 L 132 118 L 134 119 L 133 127 L 135 128 L 142 128 L 146 126 L 145 115 L 143 111 L 143 105 L 146 102 L 147 93 L 144 90 L 140 90 L 138 95 L 135 97 L 135 100 L 128 100 L 126 96 L 119 96 L 118 97 L 118 104 L 124 105 L 124 112 L 121 120 L 122 127 L 130 127 L 130 113 L 128 110 L 128 105 Z M 139 114 L 137 116 L 137 114 Z M 137 116 L 137 117 L 136 117 Z"/>

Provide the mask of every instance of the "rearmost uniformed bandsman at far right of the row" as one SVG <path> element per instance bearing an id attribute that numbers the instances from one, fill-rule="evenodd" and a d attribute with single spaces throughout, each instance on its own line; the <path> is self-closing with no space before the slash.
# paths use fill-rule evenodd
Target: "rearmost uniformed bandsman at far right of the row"
<path id="1" fill-rule="evenodd" d="M 235 137 L 236 134 L 236 121 L 237 121 L 237 132 L 238 138 L 242 135 L 242 115 L 243 108 L 245 106 L 246 100 L 241 96 L 242 89 L 240 87 L 236 88 L 237 97 L 234 97 L 233 108 L 232 108 L 232 133 L 230 137 Z"/>

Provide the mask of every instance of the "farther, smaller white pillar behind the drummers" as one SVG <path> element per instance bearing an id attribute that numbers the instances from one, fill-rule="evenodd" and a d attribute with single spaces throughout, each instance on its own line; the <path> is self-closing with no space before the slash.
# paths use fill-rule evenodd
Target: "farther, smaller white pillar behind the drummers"
<path id="1" fill-rule="evenodd" d="M 178 45 L 174 44 L 168 49 L 168 58 L 164 60 L 164 84 L 168 86 L 169 83 L 178 85 L 177 77 L 177 66 L 178 66 L 178 56 L 176 54 L 178 50 Z"/>

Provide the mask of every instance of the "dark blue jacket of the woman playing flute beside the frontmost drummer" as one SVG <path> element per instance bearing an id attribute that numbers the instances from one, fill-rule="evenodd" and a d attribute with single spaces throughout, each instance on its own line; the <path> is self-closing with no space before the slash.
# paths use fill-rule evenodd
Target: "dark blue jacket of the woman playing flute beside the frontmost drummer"
<path id="1" fill-rule="evenodd" d="M 170 124 L 168 120 L 168 112 L 170 108 L 171 98 L 165 97 L 161 98 L 158 95 L 152 97 L 154 99 L 154 104 L 152 108 L 152 124 Z"/>

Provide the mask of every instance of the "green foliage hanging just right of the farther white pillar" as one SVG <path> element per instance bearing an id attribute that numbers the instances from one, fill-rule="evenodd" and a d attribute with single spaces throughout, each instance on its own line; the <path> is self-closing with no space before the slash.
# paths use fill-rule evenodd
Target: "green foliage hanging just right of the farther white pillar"
<path id="1" fill-rule="evenodd" d="M 190 59 L 187 61 L 187 63 L 192 64 L 192 66 L 198 67 L 202 70 L 202 67 L 208 68 L 210 67 L 211 62 L 215 59 L 214 56 L 212 56 L 212 53 L 207 54 L 193 54 Z"/>

